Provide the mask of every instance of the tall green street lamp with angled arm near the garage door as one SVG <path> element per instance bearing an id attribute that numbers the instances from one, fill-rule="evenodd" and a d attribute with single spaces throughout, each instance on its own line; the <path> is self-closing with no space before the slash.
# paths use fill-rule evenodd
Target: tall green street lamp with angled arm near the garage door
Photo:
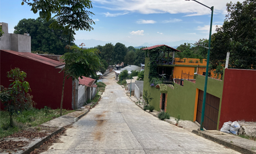
<path id="1" fill-rule="evenodd" d="M 185 0 L 185 1 L 190 1 L 190 0 Z M 191 0 L 191 1 L 195 1 L 195 0 Z M 212 37 L 212 17 L 214 16 L 214 7 L 208 7 L 207 5 L 204 5 L 204 4 L 200 3 L 199 1 L 195 1 L 195 2 L 211 9 L 211 11 L 212 11 L 211 24 L 210 24 L 209 44 L 208 44 L 208 52 L 207 52 L 207 64 L 206 64 L 206 72 L 205 72 L 205 83 L 204 83 L 204 90 L 203 90 L 203 106 L 202 106 L 202 112 L 201 112 L 201 125 L 200 125 L 200 130 L 203 131 L 205 99 L 206 99 L 206 90 L 207 90 L 207 81 L 208 81 L 208 68 L 209 68 L 211 37 Z"/>

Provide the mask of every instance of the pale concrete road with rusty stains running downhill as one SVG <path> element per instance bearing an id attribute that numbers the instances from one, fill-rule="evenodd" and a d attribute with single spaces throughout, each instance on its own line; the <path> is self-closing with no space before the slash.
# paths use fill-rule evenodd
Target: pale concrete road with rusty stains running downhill
<path id="1" fill-rule="evenodd" d="M 44 153 L 237 153 L 189 131 L 160 121 L 131 102 L 115 81 L 95 108 L 67 129 L 63 143 Z"/>

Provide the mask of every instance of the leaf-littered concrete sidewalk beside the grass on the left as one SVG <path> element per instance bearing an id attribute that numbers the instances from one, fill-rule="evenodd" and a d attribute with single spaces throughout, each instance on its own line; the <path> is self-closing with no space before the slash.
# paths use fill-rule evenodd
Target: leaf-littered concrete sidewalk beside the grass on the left
<path id="1" fill-rule="evenodd" d="M 53 135 L 56 135 L 57 133 L 60 133 L 61 131 L 64 130 L 64 127 L 67 127 L 69 125 L 72 125 L 76 121 L 78 121 L 80 118 L 82 118 L 84 115 L 86 115 L 89 111 L 90 108 L 92 108 L 93 102 L 90 104 L 87 104 L 86 106 L 83 106 L 79 110 L 75 110 L 74 112 L 71 112 L 69 114 L 65 114 L 61 117 L 58 117 L 56 119 L 53 119 L 51 121 L 48 121 L 46 123 L 43 123 L 42 125 L 39 125 L 38 127 L 35 128 L 30 128 L 25 131 L 33 131 L 33 133 L 37 133 L 44 137 L 31 137 L 30 139 L 27 139 L 26 137 L 5 137 L 3 138 L 2 141 L 18 141 L 18 147 L 13 148 L 13 150 L 5 150 L 5 152 L 0 153 L 22 153 L 22 154 L 28 154 L 34 149 L 38 149 L 40 145 L 43 145 L 44 142 L 49 141 Z M 96 105 L 96 103 L 94 103 Z M 35 132 L 36 130 L 36 132 Z M 26 144 L 24 147 L 21 146 L 23 144 Z M 2 150 L 2 149 L 0 149 Z"/>

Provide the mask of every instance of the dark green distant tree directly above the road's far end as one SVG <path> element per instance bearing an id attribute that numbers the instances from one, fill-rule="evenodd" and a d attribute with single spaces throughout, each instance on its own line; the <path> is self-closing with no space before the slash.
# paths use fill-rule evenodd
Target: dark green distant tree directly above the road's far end
<path id="1" fill-rule="evenodd" d="M 113 51 L 114 51 L 114 46 L 111 43 L 106 44 L 105 46 L 102 47 L 102 52 L 100 53 L 100 56 L 102 57 L 102 59 L 108 62 L 108 65 L 113 60 Z"/>

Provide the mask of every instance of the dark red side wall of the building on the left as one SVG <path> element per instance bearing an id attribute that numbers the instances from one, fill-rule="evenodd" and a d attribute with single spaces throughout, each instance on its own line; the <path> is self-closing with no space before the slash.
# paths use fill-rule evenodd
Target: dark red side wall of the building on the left
<path id="1" fill-rule="evenodd" d="M 33 95 L 33 100 L 37 103 L 36 108 L 60 108 L 61 106 L 61 90 L 63 84 L 63 72 L 61 69 L 42 64 L 40 62 L 9 54 L 0 51 L 1 60 L 1 76 L 0 84 L 8 87 L 11 82 L 7 78 L 6 72 L 11 68 L 20 68 L 27 74 L 26 81 L 29 82 Z M 63 108 L 72 109 L 72 79 L 65 81 L 65 91 L 63 99 Z M 3 105 L 1 104 L 1 109 Z"/>

